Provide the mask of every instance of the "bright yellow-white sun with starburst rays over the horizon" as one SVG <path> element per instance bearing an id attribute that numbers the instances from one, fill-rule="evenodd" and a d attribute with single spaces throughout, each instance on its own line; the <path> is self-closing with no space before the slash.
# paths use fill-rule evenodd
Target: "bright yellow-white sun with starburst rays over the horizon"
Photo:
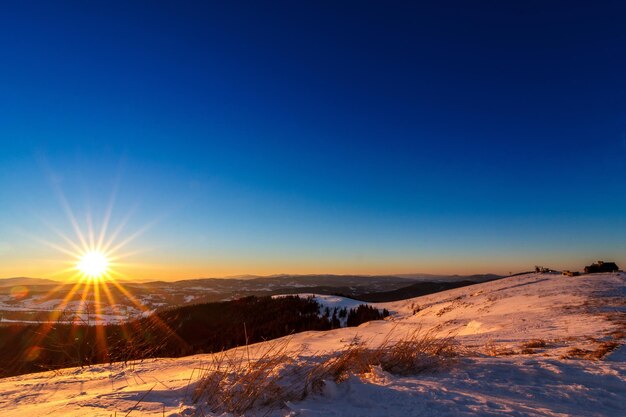
<path id="1" fill-rule="evenodd" d="M 107 323 L 110 317 L 124 317 L 118 322 L 121 331 L 127 337 L 138 330 L 139 324 L 131 320 L 128 315 L 129 307 L 140 312 L 143 317 L 149 317 L 149 322 L 157 326 L 166 334 L 173 335 L 184 346 L 182 339 L 178 338 L 173 331 L 158 317 L 152 317 L 150 309 L 145 306 L 135 294 L 132 286 L 126 288 L 120 279 L 127 280 L 125 275 L 128 268 L 144 267 L 145 264 L 132 264 L 125 262 L 129 257 L 134 257 L 143 250 L 129 250 L 128 246 L 139 236 L 146 232 L 155 223 L 148 223 L 132 233 L 124 233 L 124 226 L 131 217 L 131 213 L 124 216 L 118 225 L 110 228 L 112 219 L 113 202 L 115 193 L 100 222 L 98 230 L 94 227 L 91 213 L 86 213 L 86 222 L 81 228 L 81 223 L 75 216 L 60 187 L 55 187 L 61 205 L 71 226 L 69 230 L 73 235 L 64 232 L 56 225 L 49 224 L 42 219 L 44 224 L 58 236 L 59 241 L 50 242 L 40 236 L 30 235 L 34 240 L 55 249 L 66 257 L 64 269 L 58 270 L 54 275 L 61 275 L 64 282 L 52 288 L 45 294 L 45 298 L 52 300 L 59 298 L 60 302 L 51 311 L 48 320 L 44 321 L 38 329 L 37 336 L 33 339 L 33 345 L 39 346 L 54 331 L 55 323 L 70 323 L 72 332 L 76 333 L 74 340 L 80 341 L 81 326 L 95 325 L 95 346 L 100 358 L 111 360 L 108 356 L 110 347 L 107 341 Z M 132 277 L 130 277 L 132 278 Z M 68 316 L 69 314 L 69 316 Z M 69 319 L 67 318 L 69 317 Z M 109 318 L 107 318 L 109 317 Z"/>

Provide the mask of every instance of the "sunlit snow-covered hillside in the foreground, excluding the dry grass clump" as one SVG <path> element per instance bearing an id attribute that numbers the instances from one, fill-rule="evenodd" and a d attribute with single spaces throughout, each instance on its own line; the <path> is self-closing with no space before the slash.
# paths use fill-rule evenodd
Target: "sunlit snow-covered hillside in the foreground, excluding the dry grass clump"
<path id="1" fill-rule="evenodd" d="M 379 369 L 338 385 L 328 382 L 321 393 L 270 414 L 624 415 L 625 278 L 528 274 L 374 304 L 396 314 L 358 328 L 294 335 L 289 349 L 298 355 L 296 363 L 340 350 L 355 338 L 376 345 L 390 332 L 401 337 L 420 327 L 456 335 L 464 355 L 451 366 L 417 376 Z M 258 355 L 266 344 L 250 346 L 247 354 Z M 592 360 L 616 345 L 603 359 Z M 1 379 L 0 414 L 209 415 L 192 403 L 191 391 L 199 369 L 211 358 L 156 359 Z"/>

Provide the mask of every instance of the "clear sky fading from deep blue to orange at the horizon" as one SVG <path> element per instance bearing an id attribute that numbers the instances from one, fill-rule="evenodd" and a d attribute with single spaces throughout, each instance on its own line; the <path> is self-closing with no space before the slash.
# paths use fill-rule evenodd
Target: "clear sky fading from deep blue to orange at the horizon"
<path id="1" fill-rule="evenodd" d="M 0 277 L 623 267 L 626 4 L 420 3 L 3 2 Z"/>

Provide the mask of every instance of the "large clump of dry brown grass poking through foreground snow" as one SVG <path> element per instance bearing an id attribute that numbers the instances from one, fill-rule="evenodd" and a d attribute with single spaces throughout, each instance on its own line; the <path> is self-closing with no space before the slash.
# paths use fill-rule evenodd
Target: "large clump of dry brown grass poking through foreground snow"
<path id="1" fill-rule="evenodd" d="M 460 354 L 450 335 L 438 337 L 421 329 L 399 338 L 394 330 L 376 347 L 353 339 L 332 355 L 305 357 L 288 351 L 290 339 L 266 343 L 251 359 L 245 349 L 213 355 L 200 369 L 193 401 L 211 412 L 243 415 L 253 408 L 271 410 L 287 401 L 322 392 L 327 381 L 341 383 L 352 375 L 364 377 L 375 368 L 409 375 L 440 369 Z"/>

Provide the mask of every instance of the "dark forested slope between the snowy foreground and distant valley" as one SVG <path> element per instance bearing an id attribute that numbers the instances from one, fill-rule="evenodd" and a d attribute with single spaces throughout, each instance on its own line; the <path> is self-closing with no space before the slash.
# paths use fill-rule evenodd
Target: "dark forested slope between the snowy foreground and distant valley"
<path id="1" fill-rule="evenodd" d="M 308 330 L 380 320 L 367 305 L 322 309 L 313 298 L 245 297 L 156 311 L 120 324 L 0 326 L 0 376 L 42 370 L 219 352 Z"/>

